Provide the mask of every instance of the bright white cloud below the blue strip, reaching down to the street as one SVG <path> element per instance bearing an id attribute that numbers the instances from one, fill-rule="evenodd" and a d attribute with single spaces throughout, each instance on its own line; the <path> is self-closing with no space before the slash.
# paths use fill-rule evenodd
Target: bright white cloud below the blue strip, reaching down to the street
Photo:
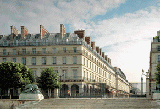
<path id="1" fill-rule="evenodd" d="M 94 24 L 96 45 L 103 47 L 129 81 L 140 82 L 142 69 L 149 69 L 151 40 L 160 30 L 159 14 L 159 8 L 149 7 Z"/>

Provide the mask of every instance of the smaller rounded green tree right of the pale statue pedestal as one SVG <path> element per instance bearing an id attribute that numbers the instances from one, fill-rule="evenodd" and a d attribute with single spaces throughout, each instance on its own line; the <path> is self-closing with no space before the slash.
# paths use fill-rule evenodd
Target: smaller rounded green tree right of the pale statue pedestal
<path id="1" fill-rule="evenodd" d="M 52 67 L 45 68 L 38 78 L 39 87 L 43 90 L 59 88 L 60 83 L 57 80 L 58 74 L 54 72 L 54 69 Z"/>

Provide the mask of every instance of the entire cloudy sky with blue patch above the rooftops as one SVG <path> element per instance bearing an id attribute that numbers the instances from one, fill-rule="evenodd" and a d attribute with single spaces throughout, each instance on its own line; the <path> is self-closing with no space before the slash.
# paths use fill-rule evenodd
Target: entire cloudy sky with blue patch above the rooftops
<path id="1" fill-rule="evenodd" d="M 59 32 L 60 24 L 66 32 L 85 29 L 113 66 L 130 82 L 140 82 L 160 30 L 159 6 L 159 0 L 0 0 L 0 34 L 10 34 L 11 25 L 29 33 L 39 33 L 41 24 L 50 33 Z"/>

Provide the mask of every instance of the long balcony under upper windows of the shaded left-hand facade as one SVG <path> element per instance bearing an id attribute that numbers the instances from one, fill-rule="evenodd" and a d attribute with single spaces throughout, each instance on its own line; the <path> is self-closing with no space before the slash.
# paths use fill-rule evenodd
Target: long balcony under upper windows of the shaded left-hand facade
<path id="1" fill-rule="evenodd" d="M 21 56 L 25 56 L 25 55 L 56 55 L 56 54 L 82 54 L 82 50 L 77 50 L 76 52 L 74 52 L 73 50 L 67 50 L 66 53 L 63 53 L 63 50 L 59 50 L 56 53 L 53 53 L 52 51 L 46 51 L 46 53 L 42 52 L 42 51 L 36 51 L 36 52 L 32 52 L 32 51 L 26 51 L 26 53 L 24 53 L 23 51 L 18 51 L 16 52 L 16 54 L 13 52 L 6 52 L 5 55 L 3 54 L 3 52 L 0 52 L 0 56 L 17 56 L 17 55 L 21 55 Z"/>

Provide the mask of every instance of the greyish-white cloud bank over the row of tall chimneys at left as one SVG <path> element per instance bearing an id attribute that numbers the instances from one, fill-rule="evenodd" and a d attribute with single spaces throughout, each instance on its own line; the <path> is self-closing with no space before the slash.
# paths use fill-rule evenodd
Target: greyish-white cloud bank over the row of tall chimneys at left
<path id="1" fill-rule="evenodd" d="M 87 0 L 78 1 L 72 0 L 67 2 L 66 0 L 38 0 L 38 1 L 0 1 L 0 13 L 5 15 L 10 22 L 18 22 L 15 26 L 25 25 L 29 27 L 30 33 L 37 33 L 37 29 L 33 28 L 35 25 L 44 25 L 45 28 L 49 28 L 52 24 L 68 23 L 72 28 L 90 28 L 86 22 L 88 22 L 93 16 L 105 14 L 108 9 L 116 8 L 119 4 L 124 3 L 125 0 Z M 54 5 L 56 4 L 56 5 Z M 3 20 L 0 18 L 0 21 Z M 86 20 L 84 22 L 84 20 Z M 0 34 L 9 34 L 10 30 L 7 28 L 10 24 L 6 20 L 3 22 L 6 27 L 0 27 L 2 31 Z M 88 27 L 89 26 L 89 27 Z M 19 27 L 17 27 L 19 28 Z M 59 28 L 55 31 L 59 32 Z M 87 32 L 86 32 L 87 33 Z"/>

